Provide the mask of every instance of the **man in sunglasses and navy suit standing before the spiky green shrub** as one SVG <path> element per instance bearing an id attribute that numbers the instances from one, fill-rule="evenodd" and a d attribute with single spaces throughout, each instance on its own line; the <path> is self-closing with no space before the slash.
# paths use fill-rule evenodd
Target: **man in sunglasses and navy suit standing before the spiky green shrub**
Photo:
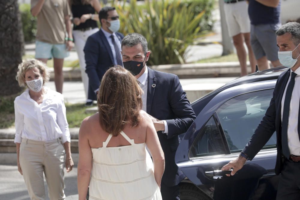
<path id="1" fill-rule="evenodd" d="M 85 47 L 85 63 L 89 79 L 88 99 L 97 100 L 96 94 L 104 73 L 112 65 L 122 66 L 121 41 L 123 34 L 119 16 L 114 7 L 103 7 L 99 12 L 101 29 L 88 37 Z M 91 102 L 92 103 L 92 102 Z"/>

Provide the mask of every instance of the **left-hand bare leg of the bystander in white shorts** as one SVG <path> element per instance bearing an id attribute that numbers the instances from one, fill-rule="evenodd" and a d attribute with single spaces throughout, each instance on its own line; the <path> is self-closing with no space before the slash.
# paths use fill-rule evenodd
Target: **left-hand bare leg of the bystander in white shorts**
<path id="1" fill-rule="evenodd" d="M 233 44 L 236 49 L 236 53 L 238 54 L 238 61 L 240 62 L 241 65 L 241 76 L 247 75 L 247 53 L 246 49 L 244 47 L 244 38 L 243 34 L 237 34 L 232 37 L 233 39 Z"/>

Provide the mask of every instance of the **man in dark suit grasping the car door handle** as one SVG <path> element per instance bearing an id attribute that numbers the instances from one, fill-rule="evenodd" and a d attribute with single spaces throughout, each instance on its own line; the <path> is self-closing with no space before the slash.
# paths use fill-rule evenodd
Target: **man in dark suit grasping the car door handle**
<path id="1" fill-rule="evenodd" d="M 276 199 L 300 199 L 300 24 L 290 22 L 276 32 L 278 58 L 289 67 L 277 79 L 265 116 L 240 156 L 223 166 L 231 175 L 252 160 L 274 131 L 277 134 L 275 173 L 281 173 Z"/>

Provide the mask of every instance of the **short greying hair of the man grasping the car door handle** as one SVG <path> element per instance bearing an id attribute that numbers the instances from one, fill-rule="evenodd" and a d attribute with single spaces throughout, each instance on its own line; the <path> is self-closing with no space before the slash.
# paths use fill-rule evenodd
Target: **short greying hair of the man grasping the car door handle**
<path id="1" fill-rule="evenodd" d="M 276 35 L 283 35 L 285 33 L 292 34 L 292 41 L 297 46 L 300 43 L 300 23 L 289 22 L 283 24 L 277 31 Z"/>

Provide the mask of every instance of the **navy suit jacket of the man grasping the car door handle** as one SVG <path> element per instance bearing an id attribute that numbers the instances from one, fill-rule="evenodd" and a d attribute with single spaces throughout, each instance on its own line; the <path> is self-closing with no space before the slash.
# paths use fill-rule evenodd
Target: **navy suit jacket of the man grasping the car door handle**
<path id="1" fill-rule="evenodd" d="M 277 79 L 273 97 L 270 102 L 270 106 L 268 107 L 265 116 L 262 118 L 262 121 L 258 125 L 255 130 L 252 138 L 243 149 L 242 152 L 249 156 L 249 159 L 252 160 L 254 156 L 261 150 L 261 148 L 268 142 L 270 137 L 273 135 L 276 130 L 276 138 L 277 138 L 277 158 L 276 158 L 276 166 L 275 173 L 280 174 L 283 166 L 284 155 L 282 154 L 282 146 L 281 146 L 281 100 L 283 97 L 284 90 L 286 88 L 286 84 L 289 80 L 291 69 L 287 70 L 280 74 Z M 299 109 L 300 116 L 300 109 Z M 300 134 L 300 121 L 298 118 L 298 134 Z M 300 137 L 300 135 L 299 135 Z"/>

